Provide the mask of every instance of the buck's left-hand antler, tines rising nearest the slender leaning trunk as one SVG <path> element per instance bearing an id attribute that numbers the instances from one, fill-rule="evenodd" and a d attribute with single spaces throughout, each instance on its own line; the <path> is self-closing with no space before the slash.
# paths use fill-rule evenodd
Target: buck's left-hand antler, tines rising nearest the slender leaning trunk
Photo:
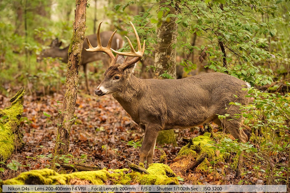
<path id="1" fill-rule="evenodd" d="M 114 56 L 114 54 L 111 52 L 111 45 L 112 45 L 112 41 L 113 41 L 113 37 L 114 37 L 114 35 L 115 35 L 115 33 L 116 33 L 116 31 L 117 30 L 115 30 L 113 33 L 112 33 L 112 35 L 111 35 L 111 37 L 110 37 L 110 40 L 109 40 L 109 42 L 108 42 L 108 46 L 107 47 L 103 47 L 102 46 L 102 43 L 101 43 L 101 36 L 100 36 L 100 27 L 101 27 L 101 24 L 102 24 L 103 22 L 101 22 L 100 24 L 99 24 L 99 26 L 98 26 L 98 30 L 97 30 L 97 43 L 98 43 L 98 45 L 97 45 L 97 47 L 93 47 L 92 46 L 92 44 L 90 43 L 90 41 L 89 41 L 89 38 L 88 37 L 86 37 L 86 40 L 87 40 L 87 43 L 88 43 L 88 46 L 89 46 L 89 49 L 86 49 L 85 48 L 85 51 L 87 51 L 87 52 L 104 52 L 104 53 L 106 53 L 112 60 L 115 58 L 115 56 Z"/>

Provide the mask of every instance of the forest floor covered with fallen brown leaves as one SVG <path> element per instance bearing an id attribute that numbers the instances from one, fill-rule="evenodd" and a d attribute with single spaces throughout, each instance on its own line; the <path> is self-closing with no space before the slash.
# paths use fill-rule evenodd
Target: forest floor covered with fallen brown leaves
<path id="1" fill-rule="evenodd" d="M 64 86 L 62 90 L 64 92 Z M 14 95 L 13 92 L 10 92 L 11 96 Z M 10 105 L 11 96 L 0 94 L 0 108 L 3 109 Z M 10 166 L 14 166 L 14 170 L 5 169 L 3 173 L 0 173 L 0 179 L 11 179 L 21 172 L 32 169 L 50 168 L 55 146 L 57 118 L 59 112 L 62 112 L 60 102 L 63 101 L 63 98 L 64 93 L 38 96 L 27 93 L 24 97 L 24 112 L 20 126 L 24 134 L 24 147 L 15 150 L 7 161 Z M 44 112 L 51 117 L 44 115 Z M 216 126 L 213 126 L 214 131 L 217 131 Z M 175 130 L 178 146 L 157 144 L 153 162 L 159 161 L 160 149 L 163 149 L 167 155 L 168 164 L 173 163 L 181 147 L 186 145 L 190 138 L 200 134 L 200 128 Z M 143 134 L 143 130 L 132 121 L 111 95 L 98 97 L 94 94 L 84 94 L 79 90 L 75 120 L 70 133 L 70 155 L 65 159 L 68 163 L 99 167 L 100 169 L 128 168 L 129 162 L 138 164 L 140 147 L 134 147 L 134 145 L 143 138 Z M 250 159 L 247 159 L 245 164 L 248 170 L 251 170 L 253 164 L 249 162 Z M 180 181 L 180 184 L 196 184 L 197 182 L 216 185 L 263 184 L 266 182 L 261 173 L 249 173 L 242 179 L 235 179 L 234 175 L 233 167 L 189 171 L 180 176 L 184 179 Z"/>

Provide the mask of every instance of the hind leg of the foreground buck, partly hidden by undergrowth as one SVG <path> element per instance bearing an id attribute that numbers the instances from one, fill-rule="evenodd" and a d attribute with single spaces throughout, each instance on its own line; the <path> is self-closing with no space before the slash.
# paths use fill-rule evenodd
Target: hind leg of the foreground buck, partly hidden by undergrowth
<path id="1" fill-rule="evenodd" d="M 249 141 L 250 133 L 249 127 L 243 125 L 242 120 L 239 119 L 231 119 L 231 120 L 219 120 L 215 119 L 214 122 L 218 124 L 223 129 L 230 132 L 230 134 L 235 138 L 238 139 L 238 142 L 246 143 Z M 243 156 L 244 152 L 242 151 L 239 156 L 239 161 L 237 165 L 236 177 L 240 176 L 241 172 L 244 171 L 243 169 Z"/>

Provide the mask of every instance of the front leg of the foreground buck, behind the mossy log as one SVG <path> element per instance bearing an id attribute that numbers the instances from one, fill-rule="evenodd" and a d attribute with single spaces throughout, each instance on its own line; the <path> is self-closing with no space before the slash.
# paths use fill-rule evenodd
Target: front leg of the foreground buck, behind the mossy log
<path id="1" fill-rule="evenodd" d="M 154 148 L 158 131 L 155 128 L 146 127 L 145 135 L 140 150 L 140 162 L 146 162 L 146 168 L 152 163 Z"/>

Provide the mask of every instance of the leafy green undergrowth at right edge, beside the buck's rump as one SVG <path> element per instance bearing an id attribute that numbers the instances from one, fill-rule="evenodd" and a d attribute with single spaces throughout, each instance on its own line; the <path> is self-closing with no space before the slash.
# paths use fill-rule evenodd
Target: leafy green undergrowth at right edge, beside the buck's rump
<path id="1" fill-rule="evenodd" d="M 220 150 L 245 150 L 247 157 L 253 157 L 256 163 L 251 172 L 256 176 L 263 172 L 267 184 L 285 183 L 289 179 L 290 165 L 281 166 L 276 160 L 288 157 L 288 163 L 290 161 L 290 95 L 264 93 L 256 89 L 250 89 L 248 93 L 254 100 L 246 107 L 241 106 L 244 111 L 240 116 L 252 129 L 250 144 L 235 146 L 222 141 Z"/>

